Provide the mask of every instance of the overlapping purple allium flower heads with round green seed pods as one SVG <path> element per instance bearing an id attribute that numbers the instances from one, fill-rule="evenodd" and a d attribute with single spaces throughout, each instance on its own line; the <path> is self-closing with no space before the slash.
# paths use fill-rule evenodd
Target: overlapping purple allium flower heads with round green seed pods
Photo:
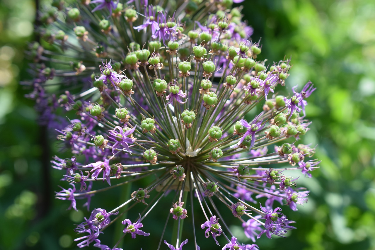
<path id="1" fill-rule="evenodd" d="M 101 244 L 115 223 L 119 242 L 148 236 L 155 249 L 180 250 L 199 249 L 202 236 L 257 249 L 238 242 L 233 223 L 254 242 L 296 228 L 281 207 L 296 211 L 309 193 L 289 170 L 311 177 L 320 163 L 298 143 L 315 88 L 282 94 L 290 60 L 262 58 L 231 1 L 54 0 L 41 13 L 29 96 L 71 152 L 52 161 L 66 187 L 56 198 L 92 211 L 74 229 L 78 247 L 121 249 Z M 106 193 L 119 186 L 131 191 L 109 207 Z M 153 210 L 165 218 L 157 235 Z"/>

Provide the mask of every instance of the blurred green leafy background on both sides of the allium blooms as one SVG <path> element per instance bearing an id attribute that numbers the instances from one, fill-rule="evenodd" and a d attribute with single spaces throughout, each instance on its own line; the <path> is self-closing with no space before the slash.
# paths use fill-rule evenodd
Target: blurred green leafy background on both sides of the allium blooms
<path id="1" fill-rule="evenodd" d="M 375 249 L 374 1 L 242 5 L 252 39 L 261 38 L 262 58 L 292 56 L 290 91 L 309 80 L 317 87 L 306 108 L 313 123 L 305 139 L 318 145 L 322 160 L 314 178 L 299 181 L 311 193 L 293 213 L 297 230 L 257 243 L 261 249 Z M 24 98 L 29 90 L 19 84 L 30 79 L 23 51 L 33 39 L 35 8 L 33 0 L 0 3 L 0 249 L 76 249 L 72 224 L 84 214 L 54 199 L 61 177 L 49 160 L 57 148 L 46 146 L 48 134 Z"/>

